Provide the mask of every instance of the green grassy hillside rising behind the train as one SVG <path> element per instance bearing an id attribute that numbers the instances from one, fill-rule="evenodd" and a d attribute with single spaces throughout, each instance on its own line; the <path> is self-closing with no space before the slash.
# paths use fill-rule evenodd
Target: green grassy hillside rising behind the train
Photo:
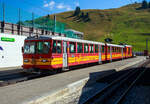
<path id="1" fill-rule="evenodd" d="M 115 44 L 123 42 L 133 45 L 135 51 L 140 51 L 145 49 L 145 40 L 150 37 L 150 9 L 138 10 L 140 6 L 132 4 L 117 9 L 82 10 L 89 13 L 88 22 L 77 16 L 71 17 L 73 11 L 56 16 L 57 21 L 66 23 L 68 28 L 84 32 L 87 40 L 104 42 L 105 38 L 110 37 Z"/>

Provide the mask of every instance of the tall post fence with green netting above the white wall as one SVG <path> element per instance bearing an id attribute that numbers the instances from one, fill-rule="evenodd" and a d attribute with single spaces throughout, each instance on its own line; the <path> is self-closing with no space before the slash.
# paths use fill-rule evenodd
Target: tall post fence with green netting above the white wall
<path id="1" fill-rule="evenodd" d="M 0 32 L 18 35 L 60 35 L 80 38 L 73 32 L 65 31 L 66 24 L 50 19 L 50 16 L 39 16 L 35 13 L 0 3 Z"/>

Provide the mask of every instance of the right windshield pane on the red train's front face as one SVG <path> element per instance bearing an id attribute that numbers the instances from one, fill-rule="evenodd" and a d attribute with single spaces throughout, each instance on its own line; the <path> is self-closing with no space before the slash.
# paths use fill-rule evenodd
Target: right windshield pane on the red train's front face
<path id="1" fill-rule="evenodd" d="M 47 54 L 50 50 L 50 42 L 37 42 L 37 53 Z"/>

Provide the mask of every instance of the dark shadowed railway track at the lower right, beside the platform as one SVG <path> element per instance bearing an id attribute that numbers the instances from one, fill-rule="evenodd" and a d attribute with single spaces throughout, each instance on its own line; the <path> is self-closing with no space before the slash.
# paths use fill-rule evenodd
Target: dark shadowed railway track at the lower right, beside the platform
<path id="1" fill-rule="evenodd" d="M 106 87 L 89 97 L 83 104 L 121 104 L 128 92 L 142 77 L 149 63 L 150 60 L 140 65 L 138 69 L 129 70 L 125 74 L 119 73 L 119 77 L 110 81 Z"/>

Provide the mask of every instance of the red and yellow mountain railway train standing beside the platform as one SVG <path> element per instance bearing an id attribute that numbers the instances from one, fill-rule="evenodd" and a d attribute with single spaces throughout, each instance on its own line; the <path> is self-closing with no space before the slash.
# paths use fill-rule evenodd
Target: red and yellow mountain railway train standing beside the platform
<path id="1" fill-rule="evenodd" d="M 59 36 L 25 39 L 23 69 L 46 71 L 132 57 L 132 46 L 115 45 Z"/>

